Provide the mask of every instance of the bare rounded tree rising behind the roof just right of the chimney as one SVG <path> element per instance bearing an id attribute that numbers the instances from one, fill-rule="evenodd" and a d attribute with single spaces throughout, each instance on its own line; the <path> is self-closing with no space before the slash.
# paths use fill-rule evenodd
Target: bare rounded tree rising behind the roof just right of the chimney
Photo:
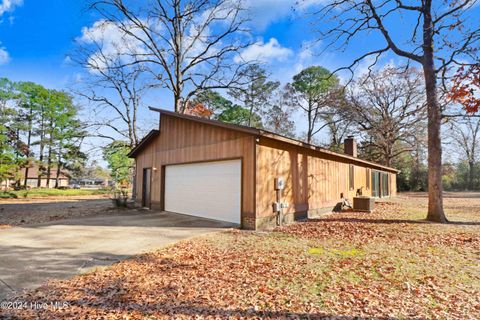
<path id="1" fill-rule="evenodd" d="M 416 70 L 387 66 L 351 83 L 343 113 L 390 166 L 413 149 L 416 130 L 426 120 L 424 92 L 423 77 Z"/>

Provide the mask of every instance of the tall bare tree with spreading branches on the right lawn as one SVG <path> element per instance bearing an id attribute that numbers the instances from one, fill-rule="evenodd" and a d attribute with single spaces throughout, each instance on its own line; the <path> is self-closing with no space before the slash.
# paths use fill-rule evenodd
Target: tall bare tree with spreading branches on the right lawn
<path id="1" fill-rule="evenodd" d="M 365 58 L 373 58 L 370 64 L 373 66 L 386 53 L 421 65 L 428 108 L 427 219 L 430 221 L 447 222 L 443 211 L 442 106 L 438 96 L 438 80 L 445 83 L 452 67 L 474 63 L 478 58 L 480 28 L 477 23 L 471 23 L 477 21 L 477 17 L 469 16 L 476 2 L 333 0 L 317 12 L 322 25 L 328 28 L 322 32 L 325 40 L 329 41 L 327 49 L 337 45 L 346 48 L 353 39 L 359 37 L 378 35 L 384 40 L 377 47 L 360 53 L 352 64 L 342 70 L 353 73 L 355 66 Z M 332 20 L 332 24 L 325 23 L 324 19 Z M 395 34 L 391 25 L 392 22 L 398 24 L 400 19 L 402 32 Z"/>

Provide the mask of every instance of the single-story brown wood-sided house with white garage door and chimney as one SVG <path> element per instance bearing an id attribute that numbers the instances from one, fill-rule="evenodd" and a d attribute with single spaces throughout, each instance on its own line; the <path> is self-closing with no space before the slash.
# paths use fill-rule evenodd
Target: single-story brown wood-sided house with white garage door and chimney
<path id="1" fill-rule="evenodd" d="M 229 221 L 244 229 L 315 217 L 342 197 L 396 194 L 397 170 L 265 130 L 150 108 L 160 113 L 129 154 L 143 207 Z M 281 221 L 279 221 L 281 220 Z"/>

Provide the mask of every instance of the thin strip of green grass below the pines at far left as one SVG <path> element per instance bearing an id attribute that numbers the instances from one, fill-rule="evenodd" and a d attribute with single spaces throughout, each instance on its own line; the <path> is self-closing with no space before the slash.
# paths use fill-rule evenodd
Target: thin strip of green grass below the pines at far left
<path id="1" fill-rule="evenodd" d="M 18 191 L 1 191 L 0 198 L 43 198 L 43 197 L 70 197 L 109 194 L 107 189 L 30 189 Z"/>

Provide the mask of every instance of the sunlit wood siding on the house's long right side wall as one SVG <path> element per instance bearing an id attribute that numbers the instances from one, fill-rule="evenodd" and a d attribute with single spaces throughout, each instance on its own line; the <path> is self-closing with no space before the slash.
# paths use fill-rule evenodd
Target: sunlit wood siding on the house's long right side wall
<path id="1" fill-rule="evenodd" d="M 269 138 L 260 138 L 257 144 L 256 210 L 257 218 L 274 215 L 275 177 L 285 179 L 283 202 L 289 204 L 284 213 L 333 208 L 343 193 L 348 199 L 362 188 L 364 196 L 371 196 L 371 170 L 361 163 L 354 164 L 354 186 L 349 186 L 349 167 L 352 161 L 321 154 L 300 146 Z M 373 170 L 373 169 L 372 169 Z M 396 192 L 396 175 L 391 175 L 392 195 Z"/>

